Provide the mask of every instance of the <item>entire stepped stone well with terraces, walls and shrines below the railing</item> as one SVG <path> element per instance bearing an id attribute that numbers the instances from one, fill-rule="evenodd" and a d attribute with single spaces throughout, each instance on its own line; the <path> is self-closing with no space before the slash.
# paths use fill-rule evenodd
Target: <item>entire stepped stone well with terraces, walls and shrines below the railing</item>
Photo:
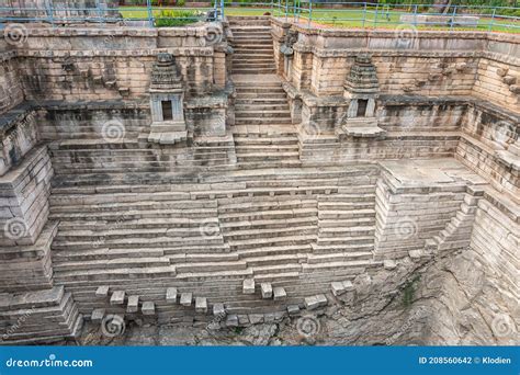
<path id="1" fill-rule="evenodd" d="M 23 27 L 0 343 L 519 344 L 518 35 Z"/>

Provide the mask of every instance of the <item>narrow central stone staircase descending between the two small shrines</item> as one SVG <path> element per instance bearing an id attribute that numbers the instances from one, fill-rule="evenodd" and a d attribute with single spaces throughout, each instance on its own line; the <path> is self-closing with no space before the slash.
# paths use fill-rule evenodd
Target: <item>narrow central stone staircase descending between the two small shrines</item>
<path id="1" fill-rule="evenodd" d="M 282 82 L 274 75 L 270 21 L 230 18 L 229 24 L 236 88 L 231 129 L 239 167 L 297 167 L 301 164 L 297 133 Z"/>

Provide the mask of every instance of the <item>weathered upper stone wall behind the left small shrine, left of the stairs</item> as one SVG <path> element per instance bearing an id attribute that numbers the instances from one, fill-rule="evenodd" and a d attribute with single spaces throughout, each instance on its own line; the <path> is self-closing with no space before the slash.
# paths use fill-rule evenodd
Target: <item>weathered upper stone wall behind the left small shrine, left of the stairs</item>
<path id="1" fill-rule="evenodd" d="M 29 29 L 25 43 L 16 45 L 19 77 L 29 100 L 136 100 L 148 96 L 157 54 L 169 52 L 188 96 L 204 95 L 226 81 L 225 53 L 214 50 L 212 32 L 218 33 L 204 26 Z"/>

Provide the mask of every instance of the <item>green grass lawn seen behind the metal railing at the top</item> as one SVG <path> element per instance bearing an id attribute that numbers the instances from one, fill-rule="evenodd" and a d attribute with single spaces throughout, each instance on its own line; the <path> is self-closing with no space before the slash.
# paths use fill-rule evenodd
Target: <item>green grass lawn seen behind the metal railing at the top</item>
<path id="1" fill-rule="evenodd" d="M 169 8 L 172 9 L 172 8 Z M 190 8 L 178 8 L 179 10 L 186 10 Z M 191 10 L 207 11 L 211 8 L 191 8 Z M 146 9 L 136 9 L 135 7 L 121 7 L 121 13 L 125 19 L 147 19 L 148 13 Z M 265 8 L 226 8 L 226 15 L 262 15 L 265 12 L 270 12 L 276 16 L 285 16 L 285 13 L 279 12 L 276 9 Z M 159 16 L 160 10 L 154 10 L 154 16 Z M 348 9 L 314 9 L 313 10 L 313 23 L 321 24 L 327 26 L 335 27 L 377 27 L 377 29 L 396 29 L 399 25 L 400 14 L 406 12 L 378 12 L 377 15 L 375 11 L 369 10 L 366 14 L 362 10 L 348 10 Z M 363 19 L 366 15 L 366 20 L 363 22 Z M 308 12 L 301 13 L 301 22 L 306 22 L 308 18 Z M 289 14 L 289 19 L 292 20 L 292 14 Z M 470 31 L 488 31 L 489 23 L 491 22 L 490 18 L 481 16 L 477 27 L 453 27 L 453 30 L 470 30 Z M 495 32 L 509 32 L 509 33 L 520 33 L 520 23 L 516 25 L 518 27 L 508 27 L 508 23 L 512 21 L 504 20 L 494 20 L 491 30 Z M 449 26 L 418 26 L 419 30 L 450 30 Z"/>

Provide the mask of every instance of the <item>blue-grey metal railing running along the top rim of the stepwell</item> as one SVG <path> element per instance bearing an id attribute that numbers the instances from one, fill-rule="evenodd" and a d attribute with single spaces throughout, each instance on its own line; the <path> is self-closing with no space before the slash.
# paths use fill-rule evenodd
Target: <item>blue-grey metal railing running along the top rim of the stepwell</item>
<path id="1" fill-rule="evenodd" d="M 95 8 L 0 7 L 0 27 L 7 23 L 44 22 L 54 26 L 66 23 L 126 23 L 142 26 L 179 26 L 196 21 L 223 20 L 228 15 L 272 14 L 302 24 L 343 27 L 399 27 L 412 24 L 425 29 L 466 29 L 481 31 L 520 31 L 520 8 L 486 5 L 381 4 L 320 0 L 225 1 L 211 7 L 154 7 L 144 0 L 140 7 Z"/>

